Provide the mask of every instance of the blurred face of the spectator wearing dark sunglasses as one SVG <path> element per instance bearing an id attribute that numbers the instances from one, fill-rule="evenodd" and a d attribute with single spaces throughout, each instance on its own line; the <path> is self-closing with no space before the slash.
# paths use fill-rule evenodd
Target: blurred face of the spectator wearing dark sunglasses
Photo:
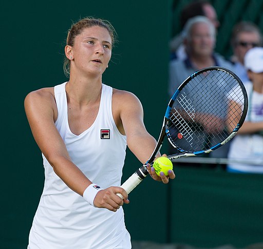
<path id="1" fill-rule="evenodd" d="M 260 38 L 257 32 L 239 33 L 234 48 L 238 61 L 243 63 L 246 52 L 253 47 L 258 47 L 259 41 Z"/>

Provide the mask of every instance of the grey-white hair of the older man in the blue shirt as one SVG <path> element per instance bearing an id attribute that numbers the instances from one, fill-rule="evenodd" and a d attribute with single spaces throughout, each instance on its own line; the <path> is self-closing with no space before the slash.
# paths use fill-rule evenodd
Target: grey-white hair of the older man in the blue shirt
<path id="1" fill-rule="evenodd" d="M 216 29 L 215 26 L 210 22 L 210 20 L 205 17 L 205 16 L 195 16 L 192 17 L 191 19 L 189 19 L 184 28 L 183 28 L 183 37 L 187 40 L 191 40 L 191 31 L 192 31 L 192 27 L 194 24 L 196 23 L 205 23 L 208 24 L 209 28 L 210 28 L 210 32 L 211 32 L 211 36 L 213 37 L 213 39 L 216 38 Z"/>

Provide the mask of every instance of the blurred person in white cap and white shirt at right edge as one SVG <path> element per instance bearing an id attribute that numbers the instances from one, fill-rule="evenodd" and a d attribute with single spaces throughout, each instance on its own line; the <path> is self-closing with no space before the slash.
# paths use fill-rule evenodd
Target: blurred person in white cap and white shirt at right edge
<path id="1" fill-rule="evenodd" d="M 244 83 L 248 93 L 248 113 L 234 137 L 228 154 L 239 163 L 227 165 L 237 173 L 263 173 L 263 48 L 248 50 L 244 58 L 250 81 Z M 231 93 L 230 93 L 231 96 Z M 230 101 L 235 101 L 231 99 Z M 242 163 L 240 163 L 242 162 Z"/>

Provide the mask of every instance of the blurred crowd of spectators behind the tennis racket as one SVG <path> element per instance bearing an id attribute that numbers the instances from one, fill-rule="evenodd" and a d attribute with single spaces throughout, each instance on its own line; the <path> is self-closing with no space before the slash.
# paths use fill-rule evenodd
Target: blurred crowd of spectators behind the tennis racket
<path id="1" fill-rule="evenodd" d="M 221 166 L 232 173 L 263 173 L 263 48 L 258 26 L 261 16 L 255 9 L 249 13 L 255 7 L 253 1 L 239 1 L 247 7 L 239 13 L 237 2 L 220 3 L 174 1 L 179 22 L 174 19 L 176 31 L 170 41 L 168 92 L 172 95 L 187 76 L 205 67 L 220 66 L 233 71 L 248 92 L 248 117 L 233 141 L 211 152 L 209 157 L 229 159 Z M 232 13 L 232 23 L 229 17 L 224 18 L 227 11 Z M 204 159 L 203 163 L 214 167 L 212 161 Z"/>

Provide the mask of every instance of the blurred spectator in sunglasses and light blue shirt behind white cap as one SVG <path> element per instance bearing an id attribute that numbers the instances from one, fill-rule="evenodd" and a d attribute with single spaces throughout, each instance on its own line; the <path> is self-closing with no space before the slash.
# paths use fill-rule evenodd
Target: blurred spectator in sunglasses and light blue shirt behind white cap
<path id="1" fill-rule="evenodd" d="M 262 46 L 262 33 L 255 24 L 242 21 L 233 28 L 231 45 L 233 70 L 242 82 L 247 82 L 249 78 L 244 66 L 244 56 L 250 48 Z"/>

